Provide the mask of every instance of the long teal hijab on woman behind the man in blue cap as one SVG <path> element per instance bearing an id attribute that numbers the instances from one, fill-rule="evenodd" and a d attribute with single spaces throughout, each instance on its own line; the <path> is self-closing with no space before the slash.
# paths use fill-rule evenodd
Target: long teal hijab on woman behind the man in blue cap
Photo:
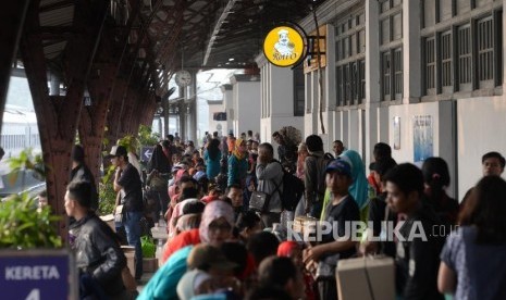
<path id="1" fill-rule="evenodd" d="M 341 155 L 351 165 L 351 177 L 354 183 L 349 186 L 349 195 L 351 195 L 360 210 L 363 210 L 368 204 L 369 183 L 366 177 L 366 167 L 360 154 L 355 150 L 346 150 Z"/>

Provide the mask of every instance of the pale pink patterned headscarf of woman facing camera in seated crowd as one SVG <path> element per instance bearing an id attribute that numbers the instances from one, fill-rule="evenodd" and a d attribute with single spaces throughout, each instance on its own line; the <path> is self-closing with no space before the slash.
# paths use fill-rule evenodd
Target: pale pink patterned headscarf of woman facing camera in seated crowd
<path id="1" fill-rule="evenodd" d="M 232 205 L 221 200 L 215 200 L 206 204 L 198 229 L 202 242 L 209 242 L 209 224 L 222 216 L 231 225 L 232 233 L 232 228 L 234 227 L 234 209 Z"/>

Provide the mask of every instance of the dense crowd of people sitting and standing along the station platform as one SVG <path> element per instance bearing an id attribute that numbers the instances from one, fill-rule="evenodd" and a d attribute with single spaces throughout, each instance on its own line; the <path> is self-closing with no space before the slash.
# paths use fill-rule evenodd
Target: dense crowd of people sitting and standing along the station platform
<path id="1" fill-rule="evenodd" d="M 333 142 L 334 153 L 325 153 L 318 135 L 299 145 L 280 132 L 272 138 L 276 151 L 251 132 L 206 134 L 201 149 L 169 135 L 155 148 L 145 183 L 126 149 L 112 149 L 114 189 L 126 212 L 122 224 L 136 250 L 136 279 L 143 274 L 138 222 L 147 213 L 143 185 L 155 199 L 150 217 L 168 224 L 163 264 L 137 299 L 337 299 L 338 261 L 371 253 L 395 260 L 391 279 L 399 299 L 444 299 L 444 293 L 506 299 L 505 159 L 498 152 L 483 155 L 483 177 L 459 204 L 445 191 L 451 178 L 441 158 L 424 160 L 421 168 L 397 164 L 391 147 L 379 142 L 367 174 L 360 154 L 341 140 Z M 312 216 L 336 224 L 337 233 L 317 242 L 287 238 L 281 223 L 287 212 L 282 199 L 294 188 L 283 186 L 288 175 L 305 187 L 288 220 Z M 86 253 L 77 257 L 86 274 L 82 288 L 99 299 L 125 299 L 124 255 L 112 230 L 92 213 L 94 192 L 78 180 L 65 196 L 74 228 L 81 227 L 76 249 Z M 261 207 L 252 203 L 255 197 Z M 359 221 L 370 226 L 357 240 L 346 235 L 346 226 Z M 404 237 L 420 226 L 427 235 L 381 238 L 385 221 Z"/>

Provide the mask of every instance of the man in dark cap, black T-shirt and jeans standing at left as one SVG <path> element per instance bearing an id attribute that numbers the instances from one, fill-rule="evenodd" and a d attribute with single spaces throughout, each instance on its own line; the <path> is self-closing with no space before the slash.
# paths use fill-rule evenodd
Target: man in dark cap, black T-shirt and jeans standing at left
<path id="1" fill-rule="evenodd" d="M 113 146 L 108 155 L 116 167 L 114 191 L 121 191 L 123 204 L 123 226 L 129 246 L 135 247 L 135 279 L 143 275 L 143 250 L 140 248 L 140 217 L 143 216 L 143 188 L 140 176 L 135 166 L 128 162 L 128 153 L 123 146 Z"/>

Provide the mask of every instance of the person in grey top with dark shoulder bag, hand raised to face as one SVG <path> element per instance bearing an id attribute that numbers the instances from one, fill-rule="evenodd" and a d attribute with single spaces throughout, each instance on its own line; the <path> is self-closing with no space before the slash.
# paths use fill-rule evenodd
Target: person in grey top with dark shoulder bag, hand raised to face
<path id="1" fill-rule="evenodd" d="M 283 168 L 281 163 L 274 160 L 274 149 L 269 142 L 258 147 L 257 158 L 258 191 L 269 195 L 269 203 L 261 212 L 266 227 L 272 227 L 272 223 L 280 223 L 282 211 L 281 193 L 283 192 Z"/>

